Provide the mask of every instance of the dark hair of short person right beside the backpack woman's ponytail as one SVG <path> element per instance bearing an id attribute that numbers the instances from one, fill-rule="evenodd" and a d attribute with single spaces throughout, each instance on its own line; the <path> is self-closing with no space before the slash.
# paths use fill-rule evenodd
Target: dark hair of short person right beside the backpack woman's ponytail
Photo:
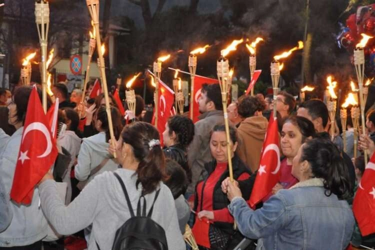
<path id="1" fill-rule="evenodd" d="M 165 158 L 165 171 L 169 176 L 164 181 L 172 192 L 173 198 L 178 198 L 179 195 L 184 194 L 187 189 L 187 176 L 185 170 L 177 163 L 177 161 Z"/>

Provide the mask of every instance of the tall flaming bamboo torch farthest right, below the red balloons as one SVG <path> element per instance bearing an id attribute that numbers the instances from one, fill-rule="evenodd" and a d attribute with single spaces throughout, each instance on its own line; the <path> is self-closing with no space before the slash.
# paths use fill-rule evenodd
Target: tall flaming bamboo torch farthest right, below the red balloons
<path id="1" fill-rule="evenodd" d="M 358 79 L 358 86 L 359 86 L 359 106 L 360 106 L 360 116 L 362 121 L 362 133 L 365 134 L 366 128 L 364 123 L 364 106 L 366 105 L 364 97 L 367 98 L 367 93 L 364 93 L 363 89 L 363 75 L 364 75 L 364 51 L 363 47 L 366 45 L 367 41 L 372 38 L 372 36 L 368 36 L 366 34 L 361 34 L 362 39 L 358 44 L 356 44 L 356 48 L 354 49 L 354 66 L 355 72 L 357 74 Z M 367 89 L 368 91 L 368 89 Z M 364 163 L 367 165 L 367 151 L 364 150 Z"/>

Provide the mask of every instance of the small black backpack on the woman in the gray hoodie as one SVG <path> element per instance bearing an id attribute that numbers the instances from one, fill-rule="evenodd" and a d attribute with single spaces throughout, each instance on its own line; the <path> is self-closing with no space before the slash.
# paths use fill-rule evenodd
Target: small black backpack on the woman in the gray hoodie
<path id="1" fill-rule="evenodd" d="M 164 229 L 151 219 L 153 204 L 156 201 L 157 195 L 159 195 L 160 189 L 156 191 L 155 198 L 153 199 L 153 203 L 147 215 L 146 199 L 143 195 L 139 197 L 136 207 L 136 216 L 134 216 L 125 185 L 120 176 L 115 172 L 113 173 L 121 184 L 131 217 L 117 229 L 112 250 L 167 250 L 168 245 L 166 243 Z M 141 198 L 143 198 L 142 214 L 140 214 Z"/>

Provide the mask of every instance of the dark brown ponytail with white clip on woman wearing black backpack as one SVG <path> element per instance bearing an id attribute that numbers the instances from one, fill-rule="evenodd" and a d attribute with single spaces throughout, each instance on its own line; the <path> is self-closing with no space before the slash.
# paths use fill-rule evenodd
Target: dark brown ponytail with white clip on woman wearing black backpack
<path id="1" fill-rule="evenodd" d="M 166 179 L 164 153 L 160 145 L 150 147 L 152 139 L 159 139 L 159 132 L 150 123 L 139 121 L 126 125 L 121 133 L 122 141 L 132 147 L 134 157 L 139 161 L 136 187 L 142 184 L 142 194 L 156 189 L 160 180 Z"/>

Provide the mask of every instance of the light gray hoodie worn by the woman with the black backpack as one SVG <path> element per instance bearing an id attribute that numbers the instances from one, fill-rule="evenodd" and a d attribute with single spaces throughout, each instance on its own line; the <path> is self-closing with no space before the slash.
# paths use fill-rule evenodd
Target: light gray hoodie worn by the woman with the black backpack
<path id="1" fill-rule="evenodd" d="M 137 176 L 133 170 L 119 168 L 115 171 L 122 178 L 128 192 L 131 206 L 136 205 L 141 194 L 141 184 L 135 187 Z M 88 249 L 110 249 L 116 230 L 130 218 L 120 183 L 112 172 L 95 175 L 80 194 L 65 206 L 59 199 L 54 180 L 39 185 L 41 207 L 50 223 L 60 234 L 71 234 L 92 223 Z M 155 191 L 146 194 L 146 210 L 153 202 Z M 160 193 L 155 201 L 151 218 L 164 230 L 168 249 L 184 250 L 185 243 L 178 227 L 174 200 L 169 188 L 160 182 Z"/>

